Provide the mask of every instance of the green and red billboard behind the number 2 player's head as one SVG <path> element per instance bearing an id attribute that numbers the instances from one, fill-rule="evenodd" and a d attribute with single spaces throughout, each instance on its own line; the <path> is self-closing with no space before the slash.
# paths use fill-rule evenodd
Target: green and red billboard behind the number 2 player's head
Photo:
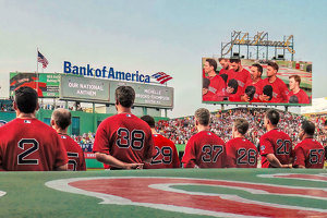
<path id="1" fill-rule="evenodd" d="M 60 74 L 57 73 L 10 73 L 10 96 L 17 88 L 28 86 L 37 90 L 38 97 L 59 97 Z"/>

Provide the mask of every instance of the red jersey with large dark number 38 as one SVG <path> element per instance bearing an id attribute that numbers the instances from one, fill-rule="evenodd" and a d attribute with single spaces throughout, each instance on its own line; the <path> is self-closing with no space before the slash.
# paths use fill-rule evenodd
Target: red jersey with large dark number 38
<path id="1" fill-rule="evenodd" d="M 119 113 L 104 120 L 98 126 L 93 152 L 129 164 L 142 164 L 156 155 L 150 128 L 131 113 Z"/>

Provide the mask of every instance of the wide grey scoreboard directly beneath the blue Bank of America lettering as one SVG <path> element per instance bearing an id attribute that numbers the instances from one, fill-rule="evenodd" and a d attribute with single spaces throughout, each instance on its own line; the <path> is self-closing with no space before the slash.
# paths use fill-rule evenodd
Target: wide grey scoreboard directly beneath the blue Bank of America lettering
<path id="1" fill-rule="evenodd" d="M 134 88 L 134 106 L 173 107 L 173 88 L 171 87 L 71 75 L 61 76 L 60 99 L 114 105 L 114 90 L 122 85 Z"/>

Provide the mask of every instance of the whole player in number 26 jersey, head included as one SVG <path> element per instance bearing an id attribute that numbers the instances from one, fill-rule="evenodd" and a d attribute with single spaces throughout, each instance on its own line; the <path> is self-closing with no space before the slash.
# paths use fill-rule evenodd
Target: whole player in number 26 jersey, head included
<path id="1" fill-rule="evenodd" d="M 232 128 L 232 140 L 226 143 L 228 168 L 256 168 L 257 149 L 245 138 L 249 122 L 245 119 L 237 119 Z"/>

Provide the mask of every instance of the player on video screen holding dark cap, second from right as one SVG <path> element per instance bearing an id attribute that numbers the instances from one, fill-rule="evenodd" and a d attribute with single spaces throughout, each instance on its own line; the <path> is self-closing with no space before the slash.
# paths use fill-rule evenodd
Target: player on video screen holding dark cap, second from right
<path id="1" fill-rule="evenodd" d="M 288 102 L 289 89 L 284 82 L 277 77 L 278 70 L 277 63 L 268 62 L 267 77 L 263 80 L 263 95 L 259 96 L 263 102 Z"/>

